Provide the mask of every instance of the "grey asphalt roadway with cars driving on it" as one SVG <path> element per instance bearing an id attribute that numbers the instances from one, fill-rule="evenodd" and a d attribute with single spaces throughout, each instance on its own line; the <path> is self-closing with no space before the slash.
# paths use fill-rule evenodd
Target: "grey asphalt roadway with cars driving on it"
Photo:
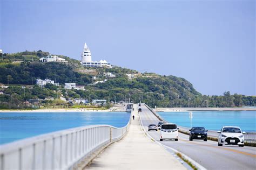
<path id="1" fill-rule="evenodd" d="M 147 125 L 158 124 L 159 121 L 145 105 L 142 105 L 140 117 L 145 130 L 147 130 Z M 148 133 L 152 138 L 159 141 L 159 130 Z M 188 135 L 183 133 L 179 133 L 178 141 L 164 140 L 159 142 L 186 154 L 207 169 L 256 169 L 256 147 L 218 146 L 216 141 L 211 140 L 190 141 Z"/>

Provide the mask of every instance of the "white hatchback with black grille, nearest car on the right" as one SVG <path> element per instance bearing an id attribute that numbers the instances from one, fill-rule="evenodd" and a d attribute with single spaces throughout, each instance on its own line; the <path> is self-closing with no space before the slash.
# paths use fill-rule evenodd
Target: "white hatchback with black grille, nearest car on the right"
<path id="1" fill-rule="evenodd" d="M 238 126 L 223 126 L 223 128 L 218 131 L 218 146 L 225 145 L 238 145 L 244 147 L 245 137 L 241 129 Z"/>

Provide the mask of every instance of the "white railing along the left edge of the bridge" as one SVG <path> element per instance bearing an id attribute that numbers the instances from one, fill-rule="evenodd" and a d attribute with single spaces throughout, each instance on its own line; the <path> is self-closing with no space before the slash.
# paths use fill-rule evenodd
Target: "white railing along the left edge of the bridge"
<path id="1" fill-rule="evenodd" d="M 0 145 L 0 169 L 74 169 L 99 148 L 121 139 L 130 120 L 123 128 L 81 126 Z"/>

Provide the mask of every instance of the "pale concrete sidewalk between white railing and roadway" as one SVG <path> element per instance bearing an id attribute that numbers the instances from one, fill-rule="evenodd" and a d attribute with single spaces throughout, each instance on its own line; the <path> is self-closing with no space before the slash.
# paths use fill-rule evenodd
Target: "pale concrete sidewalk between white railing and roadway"
<path id="1" fill-rule="evenodd" d="M 145 136 L 134 109 L 126 136 L 110 145 L 85 169 L 186 169 L 181 162 Z"/>

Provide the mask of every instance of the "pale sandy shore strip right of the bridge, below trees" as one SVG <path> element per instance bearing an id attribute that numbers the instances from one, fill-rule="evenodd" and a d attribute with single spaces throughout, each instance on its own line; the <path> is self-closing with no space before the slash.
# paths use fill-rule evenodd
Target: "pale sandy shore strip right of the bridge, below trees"
<path id="1" fill-rule="evenodd" d="M 256 111 L 256 108 L 157 108 L 156 111 Z"/>

